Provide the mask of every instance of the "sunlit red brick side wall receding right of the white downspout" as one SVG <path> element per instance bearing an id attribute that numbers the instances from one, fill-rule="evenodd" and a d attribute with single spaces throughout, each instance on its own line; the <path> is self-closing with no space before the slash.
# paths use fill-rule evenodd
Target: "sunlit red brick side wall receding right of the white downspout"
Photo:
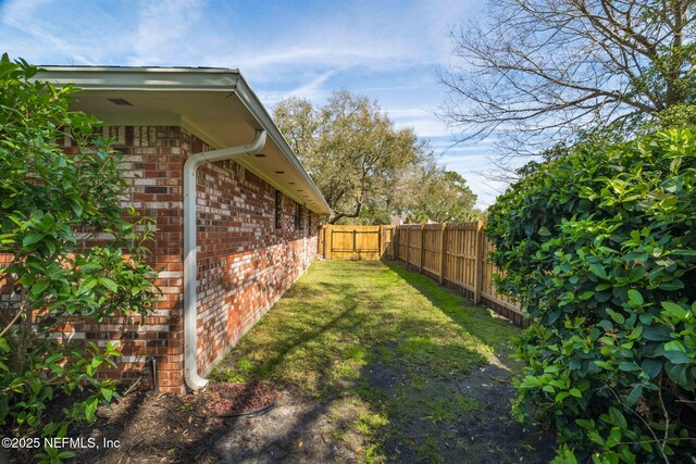
<path id="1" fill-rule="evenodd" d="M 316 221 L 313 222 L 316 224 Z M 283 294 L 315 258 L 316 227 L 295 230 L 295 202 L 224 161 L 198 173 L 198 353 L 204 372 Z"/>

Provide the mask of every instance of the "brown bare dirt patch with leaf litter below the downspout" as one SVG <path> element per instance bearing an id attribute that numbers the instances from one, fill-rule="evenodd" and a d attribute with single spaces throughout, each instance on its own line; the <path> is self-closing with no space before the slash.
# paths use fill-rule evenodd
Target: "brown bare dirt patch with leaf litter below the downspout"
<path id="1" fill-rule="evenodd" d="M 234 393 L 243 400 L 235 401 Z M 269 400 L 275 407 L 266 414 L 217 417 L 249 412 Z M 59 411 L 67 401 L 57 399 L 53 406 Z M 359 450 L 330 438 L 335 425 L 327 410 L 299 391 L 213 384 L 208 391 L 182 397 L 132 392 L 111 409 L 99 407 L 95 422 L 78 424 L 67 435 L 84 443 L 94 440 L 94 448 L 71 449 L 80 464 L 359 462 Z M 29 452 L 16 450 L 9 460 L 34 462 Z"/>

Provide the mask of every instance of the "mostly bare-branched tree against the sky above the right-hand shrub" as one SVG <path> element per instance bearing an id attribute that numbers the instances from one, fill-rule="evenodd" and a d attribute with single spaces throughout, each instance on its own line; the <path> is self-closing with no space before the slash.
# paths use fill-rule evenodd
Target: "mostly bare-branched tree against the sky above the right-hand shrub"
<path id="1" fill-rule="evenodd" d="M 490 0 L 451 33 L 444 116 L 462 138 L 495 131 L 504 154 L 631 133 L 696 102 L 695 14 L 693 0 Z"/>

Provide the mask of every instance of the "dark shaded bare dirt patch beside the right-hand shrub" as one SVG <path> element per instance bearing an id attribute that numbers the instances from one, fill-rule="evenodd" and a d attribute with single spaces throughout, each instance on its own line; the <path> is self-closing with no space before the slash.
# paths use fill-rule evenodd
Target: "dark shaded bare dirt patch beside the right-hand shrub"
<path id="1" fill-rule="evenodd" d="M 457 462 L 472 464 L 548 463 L 556 436 L 523 426 L 510 417 L 514 397 L 509 355 L 451 378 L 427 376 L 396 360 L 369 366 L 370 386 L 382 391 L 382 402 L 399 407 L 383 430 L 380 450 L 387 462 Z M 414 378 L 421 381 L 415 384 Z M 464 400 L 462 409 L 448 404 Z M 439 402 L 439 404 L 438 404 Z M 436 415 L 443 409 L 442 416 Z"/>

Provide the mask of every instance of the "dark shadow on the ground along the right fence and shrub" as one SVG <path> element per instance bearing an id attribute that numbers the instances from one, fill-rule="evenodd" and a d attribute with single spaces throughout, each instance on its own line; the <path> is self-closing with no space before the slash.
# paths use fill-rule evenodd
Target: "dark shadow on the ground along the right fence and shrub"
<path id="1" fill-rule="evenodd" d="M 376 453 L 387 462 L 550 461 L 554 437 L 509 416 L 518 329 L 425 276 L 384 265 L 448 321 L 439 317 L 419 336 L 405 330 L 400 341 L 375 347 L 373 362 L 361 368 L 357 392 L 386 418 L 373 434 Z M 438 333 L 447 329 L 457 337 L 443 342 Z"/>

